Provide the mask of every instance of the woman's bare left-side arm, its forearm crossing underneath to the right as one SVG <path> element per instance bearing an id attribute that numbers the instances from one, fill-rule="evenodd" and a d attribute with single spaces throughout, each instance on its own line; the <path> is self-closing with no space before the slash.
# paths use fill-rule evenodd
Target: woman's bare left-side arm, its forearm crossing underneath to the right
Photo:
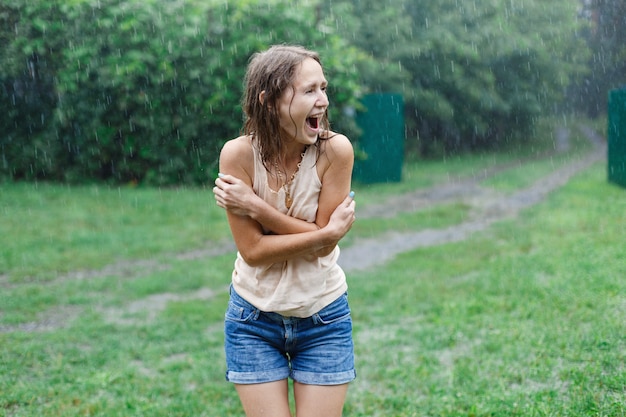
<path id="1" fill-rule="evenodd" d="M 248 187 L 252 186 L 250 173 L 253 172 L 253 164 L 250 144 L 245 137 L 229 141 L 220 154 L 220 171 L 230 173 Z M 354 201 L 351 197 L 345 197 L 349 191 L 349 178 L 344 191 L 343 197 L 335 198 L 335 201 L 339 201 L 333 210 L 328 212 L 327 208 L 322 209 L 328 218 L 320 229 L 315 226 L 315 230 L 296 234 L 265 235 L 261 223 L 252 217 L 227 210 L 231 232 L 242 257 L 250 265 L 261 265 L 316 254 L 324 248 L 334 247 L 354 222 Z M 326 204 L 330 204 L 333 199 L 327 200 Z"/>

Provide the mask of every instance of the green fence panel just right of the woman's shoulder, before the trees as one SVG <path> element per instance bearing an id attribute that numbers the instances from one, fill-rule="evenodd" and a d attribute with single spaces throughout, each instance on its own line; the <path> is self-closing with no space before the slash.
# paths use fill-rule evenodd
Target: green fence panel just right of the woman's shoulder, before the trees
<path id="1" fill-rule="evenodd" d="M 364 158 L 354 163 L 354 179 L 372 184 L 402 180 L 404 161 L 404 103 L 400 94 L 368 94 L 366 110 L 356 115 L 363 131 L 359 148 Z"/>

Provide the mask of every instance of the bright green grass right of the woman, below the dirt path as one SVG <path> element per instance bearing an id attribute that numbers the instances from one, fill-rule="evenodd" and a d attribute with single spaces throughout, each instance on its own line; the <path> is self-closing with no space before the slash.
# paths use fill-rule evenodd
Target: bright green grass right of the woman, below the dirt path
<path id="1" fill-rule="evenodd" d="M 596 165 L 520 219 L 351 277 L 346 415 L 626 415 L 623 198 Z"/>

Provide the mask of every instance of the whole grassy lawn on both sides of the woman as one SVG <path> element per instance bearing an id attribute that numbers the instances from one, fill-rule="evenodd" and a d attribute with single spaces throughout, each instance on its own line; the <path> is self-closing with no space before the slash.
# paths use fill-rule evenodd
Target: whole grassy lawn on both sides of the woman
<path id="1" fill-rule="evenodd" d="M 498 158 L 410 165 L 357 199 Z M 554 161 L 489 186 L 525 187 L 522 173 Z M 515 220 L 349 273 L 358 378 L 345 415 L 625 416 L 625 193 L 597 164 Z M 210 187 L 1 184 L 0 213 L 0 415 L 242 415 L 222 348 L 233 253 L 201 252 L 229 242 Z M 466 213 L 436 206 L 351 233 Z"/>

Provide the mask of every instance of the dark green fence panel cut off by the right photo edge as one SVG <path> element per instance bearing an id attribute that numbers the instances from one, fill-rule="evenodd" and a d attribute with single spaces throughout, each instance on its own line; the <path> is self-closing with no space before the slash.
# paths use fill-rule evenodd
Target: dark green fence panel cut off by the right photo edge
<path id="1" fill-rule="evenodd" d="M 626 88 L 609 92 L 608 176 L 626 187 Z"/>

